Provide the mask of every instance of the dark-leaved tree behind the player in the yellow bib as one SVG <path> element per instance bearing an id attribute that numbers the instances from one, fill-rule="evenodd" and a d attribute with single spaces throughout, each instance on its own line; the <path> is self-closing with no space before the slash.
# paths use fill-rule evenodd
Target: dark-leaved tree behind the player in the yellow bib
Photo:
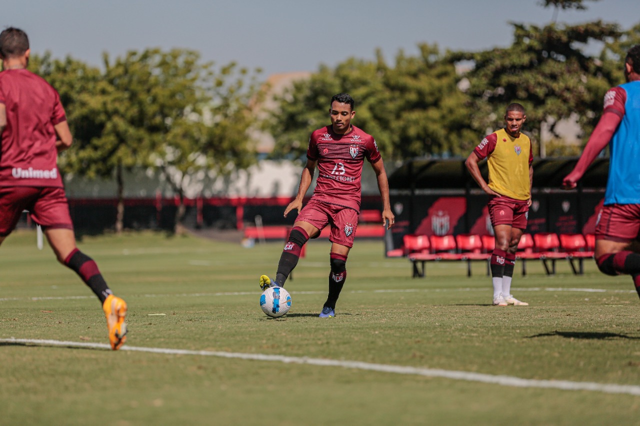
<path id="1" fill-rule="evenodd" d="M 556 1 L 547 4 L 579 4 Z M 467 74 L 472 97 L 472 127 L 478 132 L 502 125 L 504 108 L 520 102 L 527 110 L 527 128 L 540 141 L 546 122 L 555 132 L 560 120 L 577 117 L 589 134 L 602 109 L 602 96 L 618 79 L 606 58 L 593 58 L 582 48 L 593 41 L 611 42 L 621 33 L 617 24 L 588 22 L 579 25 L 548 24 L 542 28 L 513 24 L 510 47 L 484 52 L 460 52 L 455 60 L 473 61 Z M 544 148 L 541 145 L 541 155 Z"/>

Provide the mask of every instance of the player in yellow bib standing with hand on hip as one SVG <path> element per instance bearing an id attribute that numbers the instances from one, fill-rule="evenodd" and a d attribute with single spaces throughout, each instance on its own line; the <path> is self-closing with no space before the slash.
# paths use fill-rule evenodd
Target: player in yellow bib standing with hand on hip
<path id="1" fill-rule="evenodd" d="M 520 104 L 510 104 L 504 114 L 507 126 L 486 136 L 468 156 L 465 165 L 482 190 L 491 196 L 489 216 L 495 235 L 491 255 L 493 304 L 525 306 L 511 294 L 516 249 L 527 228 L 533 182 L 531 139 L 522 133 L 527 116 Z M 489 183 L 484 181 L 478 162 L 487 159 Z"/>

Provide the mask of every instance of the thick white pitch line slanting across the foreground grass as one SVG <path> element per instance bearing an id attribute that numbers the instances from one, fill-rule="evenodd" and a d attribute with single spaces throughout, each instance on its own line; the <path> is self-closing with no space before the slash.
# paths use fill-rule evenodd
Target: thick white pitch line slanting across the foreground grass
<path id="1" fill-rule="evenodd" d="M 42 346 L 86 347 L 91 349 L 108 350 L 111 349 L 106 343 L 61 342 L 60 340 L 9 338 L 0 339 L 0 343 L 31 343 L 33 345 Z M 243 354 L 240 352 L 188 351 L 186 349 L 164 349 L 159 347 L 136 346 L 123 346 L 122 348 L 120 348 L 120 351 L 151 352 L 154 354 L 168 355 L 217 356 L 219 358 L 251 359 L 253 361 L 275 361 L 285 364 L 308 364 L 319 365 L 323 367 L 355 368 L 356 370 L 368 370 L 383 373 L 422 375 L 424 377 L 443 377 L 445 379 L 500 384 L 502 386 L 513 386 L 516 388 L 546 388 L 574 391 L 584 390 L 604 393 L 626 393 L 628 395 L 640 396 L 640 386 L 633 384 L 522 379 L 520 377 L 513 377 L 510 375 L 492 375 L 465 371 L 441 370 L 439 368 L 406 367 L 403 365 L 374 364 L 365 363 L 362 361 L 338 361 L 335 359 L 306 358 L 284 355 Z"/>

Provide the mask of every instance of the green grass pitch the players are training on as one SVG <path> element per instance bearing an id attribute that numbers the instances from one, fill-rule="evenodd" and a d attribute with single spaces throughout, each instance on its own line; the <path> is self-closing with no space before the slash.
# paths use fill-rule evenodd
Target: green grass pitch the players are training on
<path id="1" fill-rule="evenodd" d="M 498 308 L 483 264 L 472 278 L 465 265 L 450 263 L 429 265 L 425 279 L 412 279 L 410 264 L 384 258 L 381 242 L 359 241 L 337 316 L 319 319 L 329 243 L 312 241 L 287 282 L 291 312 L 269 319 L 259 308 L 257 278 L 275 273 L 282 243 L 247 249 L 132 233 L 87 237 L 79 247 L 129 304 L 125 347 L 209 352 L 7 342 L 107 343 L 92 292 L 49 248 L 36 249 L 35 233 L 15 233 L 0 251 L 3 425 L 640 422 L 640 396 L 599 386 L 640 390 L 640 301 L 630 278 L 604 276 L 593 262 L 584 276 L 559 263 L 552 277 L 536 262 L 522 277 L 516 264 L 513 293 L 531 306 Z M 156 313 L 166 315 L 150 315 Z M 438 377 L 435 369 L 463 374 Z M 529 381 L 476 380 L 500 375 Z M 569 390 L 536 387 L 535 380 L 565 381 Z M 598 386 L 573 390 L 584 383 Z"/>

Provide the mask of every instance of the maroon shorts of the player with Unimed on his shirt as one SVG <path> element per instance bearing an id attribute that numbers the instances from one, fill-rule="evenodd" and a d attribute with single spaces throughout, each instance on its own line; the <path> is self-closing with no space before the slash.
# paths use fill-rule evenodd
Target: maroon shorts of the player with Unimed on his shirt
<path id="1" fill-rule="evenodd" d="M 73 229 L 65 190 L 52 187 L 0 187 L 0 236 L 9 235 L 28 210 L 35 223 L 44 228 Z"/>

